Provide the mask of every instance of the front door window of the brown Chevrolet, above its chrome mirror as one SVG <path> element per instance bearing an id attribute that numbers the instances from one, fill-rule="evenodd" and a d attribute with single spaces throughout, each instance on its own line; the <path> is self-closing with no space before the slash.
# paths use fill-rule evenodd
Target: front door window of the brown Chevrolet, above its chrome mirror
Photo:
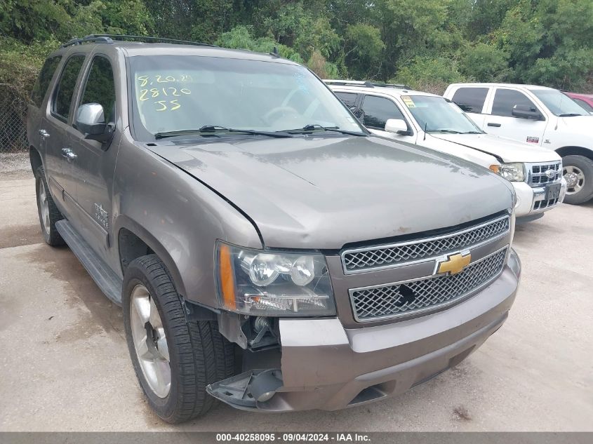
<path id="1" fill-rule="evenodd" d="M 107 58 L 97 56 L 88 72 L 80 105 L 98 103 L 103 107 L 105 123 L 115 121 L 115 82 L 113 69 Z"/>

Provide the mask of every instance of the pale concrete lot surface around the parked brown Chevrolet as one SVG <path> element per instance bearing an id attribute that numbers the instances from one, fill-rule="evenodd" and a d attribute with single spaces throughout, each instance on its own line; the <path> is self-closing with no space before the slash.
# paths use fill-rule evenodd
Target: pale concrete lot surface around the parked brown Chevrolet
<path id="1" fill-rule="evenodd" d="M 507 323 L 403 396 L 339 412 L 218 405 L 174 428 L 142 398 L 120 309 L 67 248 L 43 243 L 34 181 L 0 173 L 0 431 L 593 431 L 593 203 L 520 226 Z"/>

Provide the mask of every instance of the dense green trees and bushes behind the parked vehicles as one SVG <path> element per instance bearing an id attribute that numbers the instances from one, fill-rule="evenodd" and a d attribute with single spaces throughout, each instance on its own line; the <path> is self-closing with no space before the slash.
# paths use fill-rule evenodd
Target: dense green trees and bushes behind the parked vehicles
<path id="1" fill-rule="evenodd" d="M 0 83 L 30 88 L 72 36 L 138 34 L 272 51 L 323 77 L 593 90 L 591 0 L 2 0 Z"/>

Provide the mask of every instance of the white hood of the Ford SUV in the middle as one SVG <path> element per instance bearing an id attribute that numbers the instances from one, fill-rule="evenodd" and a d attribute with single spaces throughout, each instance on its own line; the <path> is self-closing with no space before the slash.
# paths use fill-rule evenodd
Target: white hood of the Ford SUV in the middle
<path id="1" fill-rule="evenodd" d="M 549 162 L 561 158 L 551 149 L 530 145 L 516 140 L 506 139 L 491 134 L 430 134 L 440 140 L 446 140 L 464 147 L 479 149 L 505 162 Z"/>

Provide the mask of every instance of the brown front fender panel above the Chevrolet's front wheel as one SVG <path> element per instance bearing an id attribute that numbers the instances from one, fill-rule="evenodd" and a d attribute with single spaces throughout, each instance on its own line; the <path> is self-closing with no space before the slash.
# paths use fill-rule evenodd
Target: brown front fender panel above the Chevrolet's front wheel
<path id="1" fill-rule="evenodd" d="M 214 191 L 124 137 L 114 179 L 114 238 L 122 228 L 132 231 L 159 255 L 185 298 L 216 307 L 215 241 L 262 248 L 258 231 Z M 119 245 L 116 250 L 119 260 Z"/>

